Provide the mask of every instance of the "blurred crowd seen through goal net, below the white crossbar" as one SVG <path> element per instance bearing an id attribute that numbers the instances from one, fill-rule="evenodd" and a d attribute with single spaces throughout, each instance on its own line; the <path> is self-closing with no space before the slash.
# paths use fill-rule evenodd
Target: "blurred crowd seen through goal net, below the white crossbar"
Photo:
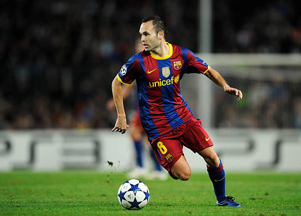
<path id="1" fill-rule="evenodd" d="M 270 69 L 275 74 L 281 70 L 277 67 Z M 252 68 L 248 70 L 252 71 Z M 242 90 L 244 95 L 240 103 L 236 103 L 231 95 L 225 95 L 215 87 L 214 126 L 301 128 L 301 76 L 297 76 L 299 79 L 295 80 L 284 79 L 285 77 L 278 75 L 271 76 L 268 80 L 254 77 L 252 79 L 225 77 L 231 85 L 238 86 Z"/>

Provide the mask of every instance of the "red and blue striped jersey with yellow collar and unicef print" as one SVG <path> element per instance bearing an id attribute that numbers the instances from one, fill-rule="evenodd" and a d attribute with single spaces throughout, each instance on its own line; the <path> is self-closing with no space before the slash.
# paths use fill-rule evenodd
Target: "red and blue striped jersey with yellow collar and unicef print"
<path id="1" fill-rule="evenodd" d="M 190 50 L 169 44 L 169 55 L 156 57 L 145 50 L 132 56 L 117 77 L 137 83 L 140 118 L 150 140 L 168 133 L 194 115 L 180 91 L 185 73 L 206 73 L 210 66 Z"/>

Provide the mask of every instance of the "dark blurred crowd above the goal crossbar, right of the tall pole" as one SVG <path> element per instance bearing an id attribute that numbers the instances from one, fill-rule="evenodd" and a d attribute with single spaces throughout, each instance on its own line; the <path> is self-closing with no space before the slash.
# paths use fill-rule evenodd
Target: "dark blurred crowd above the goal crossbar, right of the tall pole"
<path id="1" fill-rule="evenodd" d="M 300 53 L 301 1 L 213 1 L 214 52 Z"/>

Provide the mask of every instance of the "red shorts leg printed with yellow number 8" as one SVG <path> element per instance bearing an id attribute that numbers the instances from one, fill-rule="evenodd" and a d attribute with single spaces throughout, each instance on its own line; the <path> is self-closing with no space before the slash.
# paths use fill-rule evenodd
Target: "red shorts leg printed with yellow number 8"
<path id="1" fill-rule="evenodd" d="M 157 160 L 167 171 L 170 171 L 174 164 L 183 154 L 183 146 L 177 139 L 155 140 L 151 148 Z"/>

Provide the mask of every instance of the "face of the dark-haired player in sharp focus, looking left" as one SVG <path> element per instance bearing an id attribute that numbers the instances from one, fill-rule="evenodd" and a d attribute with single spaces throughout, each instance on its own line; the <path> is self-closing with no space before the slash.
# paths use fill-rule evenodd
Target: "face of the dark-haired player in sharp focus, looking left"
<path id="1" fill-rule="evenodd" d="M 152 25 L 152 21 L 141 24 L 139 32 L 145 51 L 153 51 L 160 46 L 160 40 Z"/>

